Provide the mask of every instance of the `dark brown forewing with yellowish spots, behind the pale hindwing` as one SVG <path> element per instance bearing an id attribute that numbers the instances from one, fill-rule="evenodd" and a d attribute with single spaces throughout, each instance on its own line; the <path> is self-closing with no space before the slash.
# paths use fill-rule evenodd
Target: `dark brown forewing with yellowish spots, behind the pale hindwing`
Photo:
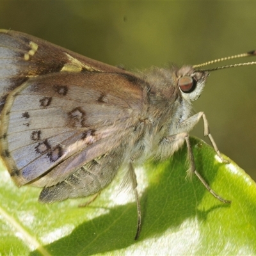
<path id="1" fill-rule="evenodd" d="M 8 93 L 29 77 L 61 71 L 129 72 L 17 31 L 0 29 L 0 111 Z"/>

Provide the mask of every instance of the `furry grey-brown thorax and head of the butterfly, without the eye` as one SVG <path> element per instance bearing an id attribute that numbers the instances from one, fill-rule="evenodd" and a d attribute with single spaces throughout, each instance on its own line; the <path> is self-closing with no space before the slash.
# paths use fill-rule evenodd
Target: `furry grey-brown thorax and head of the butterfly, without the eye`
<path id="1" fill-rule="evenodd" d="M 197 99 L 202 92 L 205 76 L 196 74 L 196 79 L 200 83 L 192 98 L 181 92 L 178 81 L 180 77 L 190 76 L 193 72 L 191 67 L 153 68 L 143 75 L 145 81 L 148 81 L 149 104 L 147 113 L 143 113 L 144 119 L 140 120 L 142 132 L 131 147 L 139 162 L 150 157 L 156 159 L 170 157 L 184 143 L 184 139 L 173 139 L 173 142 L 169 141 L 166 146 L 162 145 L 166 138 L 175 138 L 181 132 L 190 131 L 190 127 L 183 127 L 182 122 L 191 116 L 191 101 Z"/>

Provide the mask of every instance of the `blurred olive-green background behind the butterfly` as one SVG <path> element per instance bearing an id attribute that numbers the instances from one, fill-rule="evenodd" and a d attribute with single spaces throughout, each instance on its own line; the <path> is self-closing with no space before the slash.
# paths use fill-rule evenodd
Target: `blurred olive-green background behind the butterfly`
<path id="1" fill-rule="evenodd" d="M 0 27 L 143 70 L 256 49 L 255 10 L 246 1 L 1 1 Z M 256 66 L 220 70 L 194 106 L 205 112 L 221 152 L 256 180 L 255 93 Z M 202 122 L 191 134 L 204 138 Z"/>

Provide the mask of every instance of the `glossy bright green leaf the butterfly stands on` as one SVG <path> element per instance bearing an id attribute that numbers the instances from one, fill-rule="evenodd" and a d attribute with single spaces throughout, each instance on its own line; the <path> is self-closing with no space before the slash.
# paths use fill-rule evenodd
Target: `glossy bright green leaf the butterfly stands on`
<path id="1" fill-rule="evenodd" d="M 134 198 L 120 189 L 124 173 L 79 208 L 84 198 L 39 204 L 40 189 L 17 188 L 2 170 L 1 255 L 255 255 L 255 183 L 232 161 L 221 163 L 204 141 L 191 138 L 191 144 L 198 172 L 231 205 L 195 175 L 186 179 L 186 147 L 168 161 L 136 169 L 143 220 L 138 241 Z"/>

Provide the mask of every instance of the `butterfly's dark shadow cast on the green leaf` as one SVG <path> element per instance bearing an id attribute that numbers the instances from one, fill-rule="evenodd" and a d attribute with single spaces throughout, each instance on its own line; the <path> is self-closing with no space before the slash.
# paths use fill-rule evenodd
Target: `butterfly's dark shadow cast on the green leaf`
<path id="1" fill-rule="evenodd" d="M 198 140 L 191 139 L 198 172 L 212 183 L 220 164 L 214 161 L 214 150 Z M 205 159 L 205 154 L 208 154 Z M 208 209 L 199 210 L 205 193 L 208 193 L 196 178 L 186 179 L 186 147 L 181 148 L 172 159 L 163 163 L 145 166 L 149 185 L 141 196 L 142 230 L 138 241 L 136 234 L 136 205 L 119 205 L 75 228 L 72 234 L 45 246 L 52 255 L 93 255 L 111 252 L 131 246 L 150 237 L 161 237 L 166 230 L 177 232 L 185 220 L 197 218 L 207 221 L 207 214 L 219 211 L 227 205 L 215 201 Z M 140 182 L 140 180 L 138 181 Z M 103 192 L 104 193 L 104 192 Z M 213 197 L 212 197 L 213 198 Z M 214 202 L 214 199 L 211 203 Z M 91 207 L 91 206 L 90 206 Z M 97 211 L 97 209 L 95 209 Z M 61 216 L 60 216 L 61 218 Z M 37 252 L 31 255 L 38 255 Z"/>

